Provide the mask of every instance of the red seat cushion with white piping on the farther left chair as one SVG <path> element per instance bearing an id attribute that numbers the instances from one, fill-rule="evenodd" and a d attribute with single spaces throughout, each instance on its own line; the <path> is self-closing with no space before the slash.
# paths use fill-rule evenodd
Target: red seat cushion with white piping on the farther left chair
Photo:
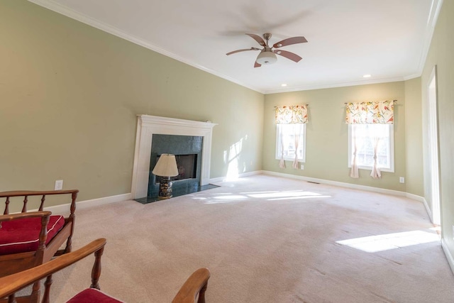
<path id="1" fill-rule="evenodd" d="M 65 225 L 63 216 L 50 216 L 48 238 L 45 243 L 57 234 Z M 25 253 L 38 249 L 41 231 L 41 218 L 25 218 L 1 222 L 0 255 Z"/>

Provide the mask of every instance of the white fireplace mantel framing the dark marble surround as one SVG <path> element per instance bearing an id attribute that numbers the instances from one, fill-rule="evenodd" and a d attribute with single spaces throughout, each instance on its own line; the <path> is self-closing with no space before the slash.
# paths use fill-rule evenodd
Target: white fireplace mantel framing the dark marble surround
<path id="1" fill-rule="evenodd" d="M 209 183 L 211 136 L 216 123 L 138 115 L 133 166 L 133 199 L 147 197 L 150 174 L 151 141 L 153 134 L 201 136 L 204 138 L 201 155 L 201 185 Z"/>

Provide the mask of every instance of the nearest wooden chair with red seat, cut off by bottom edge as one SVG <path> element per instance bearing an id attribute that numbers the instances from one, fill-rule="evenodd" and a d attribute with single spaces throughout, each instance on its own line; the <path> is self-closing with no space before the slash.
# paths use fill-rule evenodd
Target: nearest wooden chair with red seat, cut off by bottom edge
<path id="1" fill-rule="evenodd" d="M 103 302 L 103 303 L 121 303 L 118 299 L 110 297 L 99 290 L 99 277 L 101 275 L 101 255 L 106 245 L 105 238 L 99 238 L 86 246 L 55 258 L 48 263 L 39 265 L 35 268 L 18 272 L 13 275 L 0 278 L 0 298 L 8 297 L 9 303 L 16 302 L 14 293 L 23 289 L 27 285 L 31 285 L 44 277 L 47 277 L 45 282 L 45 292 L 43 295 L 43 303 L 49 302 L 50 284 L 52 283 L 52 274 L 67 266 L 76 263 L 79 260 L 94 253 L 94 265 L 92 268 L 92 285 L 87 290 L 79 292 L 72 297 L 67 303 L 87 303 L 87 302 Z M 173 299 L 172 303 L 204 303 L 206 285 L 210 277 L 210 272 L 207 268 L 199 268 L 184 282 L 179 292 Z M 198 298 L 198 299 L 197 299 Z M 196 301 L 197 300 L 197 301 Z"/>

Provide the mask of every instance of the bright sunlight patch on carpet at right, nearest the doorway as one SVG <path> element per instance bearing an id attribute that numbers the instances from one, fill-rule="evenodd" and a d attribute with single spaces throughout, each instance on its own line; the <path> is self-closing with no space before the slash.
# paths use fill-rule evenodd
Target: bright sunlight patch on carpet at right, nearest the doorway
<path id="1" fill-rule="evenodd" d="M 378 236 L 353 238 L 336 241 L 336 243 L 350 246 L 367 253 L 377 253 L 383 250 L 403 248 L 435 241 L 440 241 L 440 238 L 436 233 L 429 233 L 427 231 L 405 231 L 403 233 L 387 233 Z"/>

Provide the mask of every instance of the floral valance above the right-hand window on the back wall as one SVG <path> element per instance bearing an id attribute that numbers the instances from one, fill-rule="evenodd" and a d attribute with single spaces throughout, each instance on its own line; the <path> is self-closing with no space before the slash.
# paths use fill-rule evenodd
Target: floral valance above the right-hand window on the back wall
<path id="1" fill-rule="evenodd" d="M 345 123 L 393 124 L 394 101 L 347 103 Z"/>

